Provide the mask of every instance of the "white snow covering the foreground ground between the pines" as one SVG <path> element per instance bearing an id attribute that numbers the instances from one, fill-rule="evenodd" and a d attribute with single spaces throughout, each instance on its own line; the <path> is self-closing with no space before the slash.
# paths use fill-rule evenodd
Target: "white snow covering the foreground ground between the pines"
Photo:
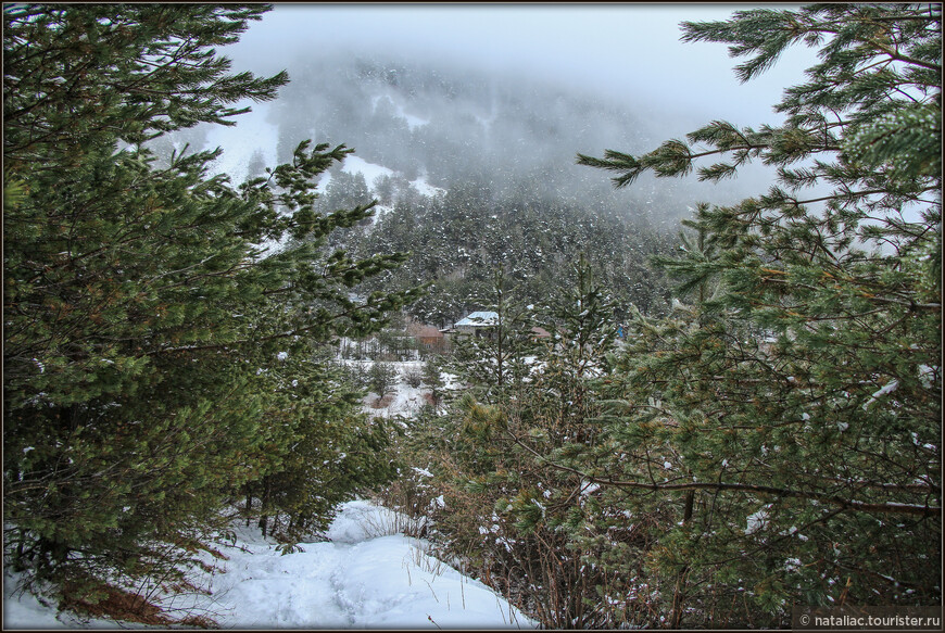
<path id="1" fill-rule="evenodd" d="M 286 555 L 257 528 L 238 522 L 237 541 L 219 548 L 228 560 L 207 556 L 216 572 L 194 579 L 211 595 L 162 606 L 207 616 L 224 629 L 537 628 L 492 590 L 429 556 L 426 542 L 398 533 L 404 520 L 369 502 L 349 502 L 325 534 L 329 541 Z M 13 596 L 15 579 L 4 580 L 4 629 L 118 626 L 58 618 L 33 596 Z"/>

